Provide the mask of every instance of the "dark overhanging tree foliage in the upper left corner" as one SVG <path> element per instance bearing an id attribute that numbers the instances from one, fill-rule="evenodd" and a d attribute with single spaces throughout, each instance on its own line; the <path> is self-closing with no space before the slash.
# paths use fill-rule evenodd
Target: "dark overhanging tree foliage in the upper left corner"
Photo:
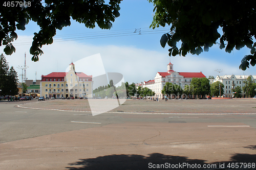
<path id="1" fill-rule="evenodd" d="M 34 33 L 30 54 L 32 61 L 38 61 L 42 55 L 42 45 L 53 43 L 56 29 L 71 25 L 70 18 L 84 23 L 87 28 L 95 28 L 95 23 L 101 29 L 110 29 L 112 22 L 119 14 L 121 0 L 110 0 L 104 4 L 102 0 L 95 1 L 63 1 L 63 0 L 34 0 L 3 2 L 0 6 L 0 46 L 6 45 L 4 52 L 11 55 L 15 52 L 12 42 L 17 39 L 17 30 L 25 30 L 30 20 L 40 27 Z"/>

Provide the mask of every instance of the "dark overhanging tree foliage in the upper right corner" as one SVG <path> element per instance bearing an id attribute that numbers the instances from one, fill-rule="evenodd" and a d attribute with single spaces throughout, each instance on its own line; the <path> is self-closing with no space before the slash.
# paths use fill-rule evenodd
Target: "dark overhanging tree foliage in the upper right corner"
<path id="1" fill-rule="evenodd" d="M 227 53 L 231 53 L 234 47 L 240 50 L 246 45 L 251 54 L 242 59 L 239 68 L 245 70 L 249 64 L 256 64 L 256 42 L 253 42 L 256 4 L 253 1 L 148 1 L 155 6 L 151 27 L 171 26 L 170 32 L 160 40 L 162 47 L 166 43 L 170 46 L 169 56 L 199 55 L 203 51 L 208 52 L 213 44 L 219 44 L 220 49 L 225 48 Z M 222 35 L 219 29 L 222 29 Z M 178 48 L 179 41 L 181 46 Z"/>

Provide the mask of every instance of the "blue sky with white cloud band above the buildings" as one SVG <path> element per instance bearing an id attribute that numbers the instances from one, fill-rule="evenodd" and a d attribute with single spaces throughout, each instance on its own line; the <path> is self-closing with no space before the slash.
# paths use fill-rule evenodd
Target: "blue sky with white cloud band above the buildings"
<path id="1" fill-rule="evenodd" d="M 167 71 L 168 46 L 162 48 L 159 41 L 162 34 L 168 32 L 169 26 L 155 30 L 149 28 L 153 20 L 154 6 L 146 0 L 123 1 L 120 7 L 120 17 L 116 18 L 111 30 L 101 30 L 98 27 L 88 29 L 75 21 L 72 21 L 70 27 L 58 30 L 53 44 L 42 47 L 44 55 L 39 57 L 38 62 L 31 61 L 29 48 L 33 33 L 38 32 L 39 27 L 30 21 L 25 31 L 17 31 L 18 39 L 13 43 L 16 53 L 6 56 L 6 59 L 20 75 L 22 70 L 16 67 L 24 65 L 26 52 L 29 66 L 27 78 L 35 79 L 36 72 L 36 78 L 40 79 L 41 75 L 48 75 L 53 71 L 65 71 L 71 61 L 99 53 L 106 72 L 119 72 L 124 81 L 129 83 L 152 80 L 157 71 Z M 105 36 L 108 38 L 102 38 Z M 81 40 L 77 40 L 79 38 Z M 2 53 L 3 49 L 1 46 Z M 218 45 L 214 45 L 209 52 L 199 56 L 188 54 L 186 57 L 171 57 L 171 62 L 176 71 L 202 71 L 206 77 L 216 77 L 216 69 L 223 69 L 221 75 L 256 75 L 256 67 L 250 67 L 246 71 L 239 69 L 241 59 L 248 54 L 246 47 L 228 54 L 225 50 L 220 50 Z M 87 74 L 83 68 L 76 71 Z"/>

